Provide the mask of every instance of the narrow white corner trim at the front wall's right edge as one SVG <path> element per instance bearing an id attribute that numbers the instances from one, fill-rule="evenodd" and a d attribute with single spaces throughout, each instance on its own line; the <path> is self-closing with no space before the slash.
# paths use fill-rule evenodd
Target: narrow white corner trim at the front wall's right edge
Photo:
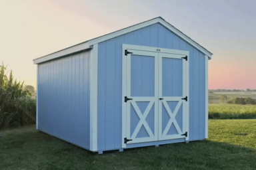
<path id="1" fill-rule="evenodd" d="M 205 138 L 208 138 L 208 56 L 205 55 Z"/>

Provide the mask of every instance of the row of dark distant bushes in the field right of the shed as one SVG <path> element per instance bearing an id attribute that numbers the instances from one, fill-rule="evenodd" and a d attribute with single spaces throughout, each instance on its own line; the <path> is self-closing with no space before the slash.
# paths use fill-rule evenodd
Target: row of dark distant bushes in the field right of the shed
<path id="1" fill-rule="evenodd" d="M 221 103 L 228 103 L 228 104 L 256 104 L 256 100 L 253 98 L 227 98 L 225 95 L 221 95 L 219 98 Z"/>

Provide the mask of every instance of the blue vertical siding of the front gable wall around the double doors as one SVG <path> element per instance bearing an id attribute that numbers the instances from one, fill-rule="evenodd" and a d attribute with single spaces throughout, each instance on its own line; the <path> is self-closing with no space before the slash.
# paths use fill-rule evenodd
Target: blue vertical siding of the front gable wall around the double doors
<path id="1" fill-rule="evenodd" d="M 189 51 L 189 139 L 204 139 L 205 55 L 163 27 L 163 25 L 157 23 L 99 43 L 97 103 L 98 150 L 121 148 L 121 102 L 123 102 L 121 90 L 121 44 L 136 44 Z M 177 114 L 177 121 L 181 119 L 179 118 L 179 114 Z M 158 144 L 181 141 L 184 141 L 184 139 L 159 141 Z M 155 144 L 155 142 L 135 143 L 127 145 L 127 147 L 152 145 L 152 143 Z"/>

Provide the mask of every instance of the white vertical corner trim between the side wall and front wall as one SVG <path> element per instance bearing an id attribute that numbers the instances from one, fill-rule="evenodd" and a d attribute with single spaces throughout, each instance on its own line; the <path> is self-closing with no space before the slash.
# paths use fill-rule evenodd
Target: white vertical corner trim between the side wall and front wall
<path id="1" fill-rule="evenodd" d="M 90 150 L 97 151 L 98 44 L 93 44 L 90 60 Z"/>

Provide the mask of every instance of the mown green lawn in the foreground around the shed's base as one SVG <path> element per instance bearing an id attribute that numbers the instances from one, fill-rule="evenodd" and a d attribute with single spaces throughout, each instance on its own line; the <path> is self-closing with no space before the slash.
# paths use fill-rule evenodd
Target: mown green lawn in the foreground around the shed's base
<path id="1" fill-rule="evenodd" d="M 205 141 L 97 155 L 29 126 L 0 132 L 0 169 L 256 169 L 255 127 L 210 120 Z"/>

